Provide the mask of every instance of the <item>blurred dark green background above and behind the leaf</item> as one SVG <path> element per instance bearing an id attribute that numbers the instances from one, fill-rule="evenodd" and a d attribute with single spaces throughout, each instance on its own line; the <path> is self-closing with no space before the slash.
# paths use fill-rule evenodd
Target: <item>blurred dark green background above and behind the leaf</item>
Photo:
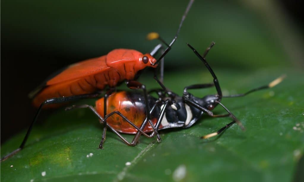
<path id="1" fill-rule="evenodd" d="M 29 125 L 36 109 L 27 94 L 49 74 L 115 48 L 150 52 L 158 42 L 148 42 L 146 34 L 159 32 L 169 42 L 187 3 L 1 1 L 1 143 Z M 211 41 L 217 44 L 214 68 L 300 69 L 300 8 L 288 0 L 196 1 L 166 56 L 165 71 L 196 67 L 185 42 L 204 50 Z"/>

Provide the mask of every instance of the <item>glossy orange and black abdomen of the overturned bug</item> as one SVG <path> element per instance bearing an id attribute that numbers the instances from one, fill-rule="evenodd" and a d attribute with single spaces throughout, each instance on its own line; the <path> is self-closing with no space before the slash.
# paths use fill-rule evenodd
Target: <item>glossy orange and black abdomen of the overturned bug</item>
<path id="1" fill-rule="evenodd" d="M 119 111 L 122 113 L 126 118 L 132 121 L 137 127 L 143 123 L 144 119 L 146 118 L 146 107 L 144 102 L 132 102 L 128 98 L 125 91 L 113 93 L 107 99 L 107 114 L 112 113 L 113 111 Z M 98 99 L 96 101 L 96 110 L 97 112 L 104 117 L 104 98 Z M 152 123 L 156 124 L 157 118 L 152 119 Z M 107 119 L 107 123 L 112 126 L 116 131 L 121 133 L 130 133 L 135 134 L 137 130 L 127 123 L 122 117 L 117 114 L 110 116 Z M 160 125 L 162 128 L 162 125 Z M 143 129 L 144 132 L 152 132 L 153 129 L 149 123 Z"/>

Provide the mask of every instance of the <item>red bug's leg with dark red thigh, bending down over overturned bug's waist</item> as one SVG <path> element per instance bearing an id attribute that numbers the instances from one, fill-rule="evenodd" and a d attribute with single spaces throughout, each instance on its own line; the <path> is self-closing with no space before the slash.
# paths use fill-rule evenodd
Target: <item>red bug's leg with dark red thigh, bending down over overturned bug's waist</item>
<path id="1" fill-rule="evenodd" d="M 147 119 L 148 119 L 148 122 L 150 123 L 150 125 L 152 126 L 154 132 L 156 133 L 157 135 L 157 140 L 158 141 L 161 141 L 161 137 L 159 136 L 156 128 L 154 127 L 152 121 L 151 121 L 151 114 L 150 114 L 150 108 L 149 108 L 149 103 L 148 103 L 148 95 L 147 95 L 147 89 L 146 89 L 146 86 L 143 85 L 142 83 L 140 82 L 137 82 L 137 81 L 129 81 L 127 83 L 127 87 L 129 87 L 130 89 L 142 89 L 143 90 L 143 96 L 145 98 L 145 104 L 146 104 L 146 113 L 147 113 Z"/>

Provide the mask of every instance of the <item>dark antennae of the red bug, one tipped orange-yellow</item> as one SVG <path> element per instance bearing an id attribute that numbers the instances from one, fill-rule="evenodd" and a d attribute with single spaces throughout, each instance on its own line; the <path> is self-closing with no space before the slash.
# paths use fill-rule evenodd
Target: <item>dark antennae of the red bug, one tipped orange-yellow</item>
<path id="1" fill-rule="evenodd" d="M 149 34 L 147 35 L 147 39 L 149 39 L 149 40 L 159 39 L 161 42 L 163 42 L 165 45 L 168 46 L 167 49 L 164 51 L 164 53 L 161 55 L 161 57 L 159 57 L 159 58 L 157 59 L 157 61 L 153 63 L 153 66 L 156 65 L 156 64 L 158 64 L 158 62 L 159 62 L 159 61 L 160 61 L 160 60 L 161 60 L 161 59 L 170 51 L 171 46 L 174 44 L 174 42 L 176 41 L 176 39 L 177 39 L 177 37 L 178 37 L 178 33 L 179 33 L 179 31 L 181 30 L 181 25 L 183 25 L 183 22 L 184 22 L 184 20 L 186 19 L 186 16 L 187 16 L 187 14 L 188 14 L 188 12 L 189 12 L 189 10 L 190 10 L 190 8 L 191 8 L 193 2 L 194 2 L 194 0 L 190 0 L 190 2 L 188 3 L 188 6 L 187 6 L 187 8 L 186 8 L 186 11 L 185 11 L 184 15 L 183 15 L 182 18 L 181 18 L 181 22 L 179 23 L 178 30 L 177 30 L 177 32 L 176 32 L 176 34 L 175 34 L 175 37 L 174 37 L 174 39 L 172 40 L 172 42 L 171 42 L 169 45 L 168 45 L 168 44 L 159 36 L 159 34 L 156 33 L 156 32 L 151 32 L 151 33 L 149 33 Z"/>

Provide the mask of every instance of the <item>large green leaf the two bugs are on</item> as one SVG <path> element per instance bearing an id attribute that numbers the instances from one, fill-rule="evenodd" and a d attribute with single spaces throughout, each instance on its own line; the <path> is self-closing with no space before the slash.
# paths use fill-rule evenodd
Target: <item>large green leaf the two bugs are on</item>
<path id="1" fill-rule="evenodd" d="M 216 72 L 224 93 L 243 93 L 268 84 L 282 70 Z M 183 73 L 166 74 L 164 83 L 182 93 L 186 85 L 212 80 L 201 70 Z M 142 136 L 138 145 L 129 147 L 108 131 L 105 149 L 98 150 L 102 126 L 97 118 L 87 109 L 65 112 L 61 108 L 34 127 L 23 150 L 1 163 L 1 180 L 290 181 L 304 149 L 304 85 L 297 72 L 286 73 L 288 77 L 274 88 L 242 98 L 224 98 L 222 103 L 247 130 L 233 125 L 217 139 L 199 137 L 231 120 L 203 116 L 189 129 L 160 131 L 161 143 Z M 150 78 L 140 81 L 147 88 L 156 86 Z M 193 91 L 196 96 L 214 92 L 214 88 Z M 93 105 L 94 99 L 80 103 Z M 214 113 L 225 111 L 217 107 Z M 1 156 L 16 149 L 24 134 L 2 145 Z M 123 136 L 129 141 L 133 138 Z"/>

